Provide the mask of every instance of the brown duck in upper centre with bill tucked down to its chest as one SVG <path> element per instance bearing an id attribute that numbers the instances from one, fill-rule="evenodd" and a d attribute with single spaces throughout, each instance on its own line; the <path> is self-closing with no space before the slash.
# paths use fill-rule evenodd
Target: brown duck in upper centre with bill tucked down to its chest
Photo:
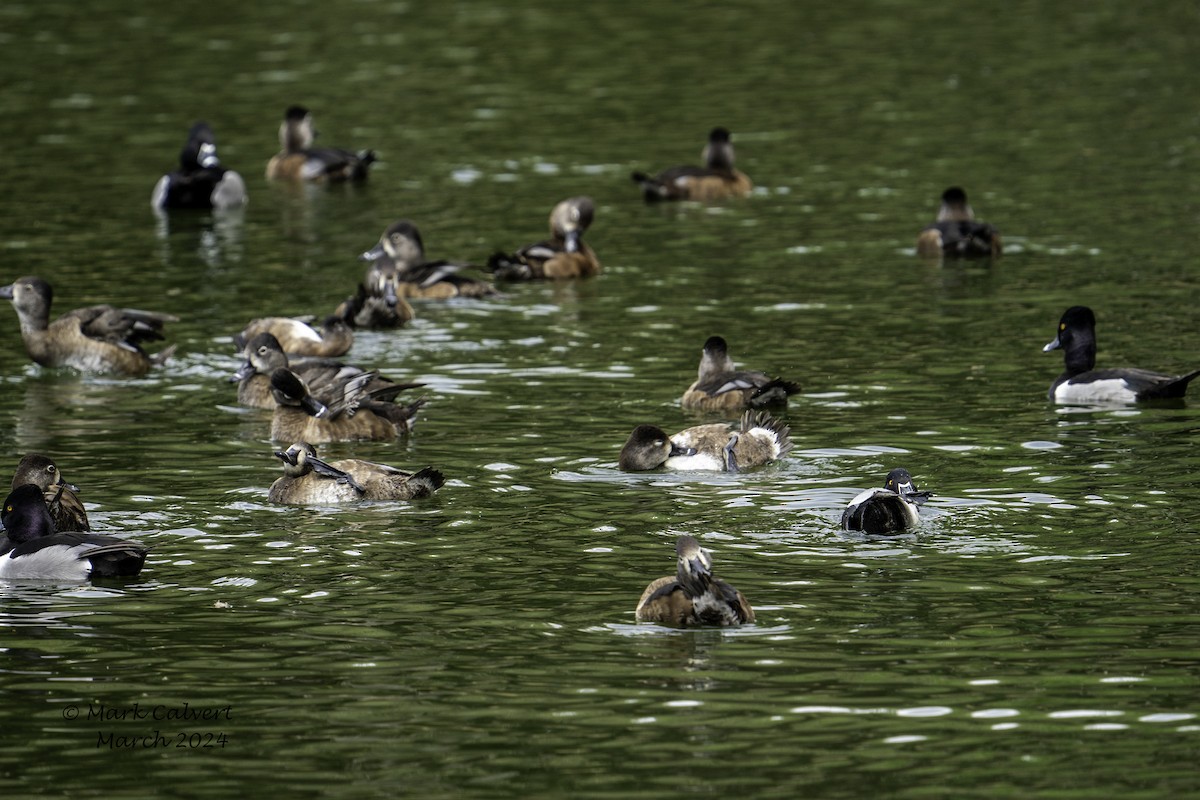
<path id="1" fill-rule="evenodd" d="M 600 272 L 600 260 L 583 242 L 595 204 L 589 197 L 571 197 L 550 212 L 551 239 L 526 245 L 515 253 L 493 253 L 487 269 L 497 281 L 586 278 Z"/>

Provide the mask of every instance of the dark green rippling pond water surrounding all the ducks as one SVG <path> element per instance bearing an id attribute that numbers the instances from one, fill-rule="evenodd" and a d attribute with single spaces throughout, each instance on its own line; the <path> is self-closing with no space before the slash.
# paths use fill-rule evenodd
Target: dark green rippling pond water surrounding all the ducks
<path id="1" fill-rule="evenodd" d="M 142 380 L 37 368 L 0 308 L 0 461 L 41 451 L 127 585 L 0 587 L 0 794 L 190 798 L 1177 798 L 1200 792 L 1200 416 L 1066 409 L 1043 355 L 1198 366 L 1194 4 L 466 1 L 0 7 L 0 264 L 56 308 L 178 314 Z M 378 150 L 361 188 L 262 172 L 284 107 Z M 251 201 L 150 212 L 206 119 Z M 628 180 L 733 131 L 755 194 L 647 207 Z M 947 186 L 1001 227 L 917 259 Z M 588 193 L 604 273 L 425 303 L 350 359 L 430 384 L 428 503 L 266 503 L 269 414 L 229 336 L 325 313 L 397 217 L 481 261 Z M 7 317 L 7 319 L 5 319 Z M 796 450 L 737 476 L 617 471 L 678 429 L 700 347 L 799 380 Z M 845 503 L 906 465 L 919 533 Z M 634 622 L 676 535 L 758 624 Z M 152 718 L 188 704 L 220 720 Z M 89 720 L 104 704 L 120 720 Z M 149 718 L 133 718 L 150 710 Z M 72 709 L 80 712 L 71 718 Z M 224 734 L 110 750 L 102 735 Z M 197 740 L 198 741 L 198 740 Z"/>

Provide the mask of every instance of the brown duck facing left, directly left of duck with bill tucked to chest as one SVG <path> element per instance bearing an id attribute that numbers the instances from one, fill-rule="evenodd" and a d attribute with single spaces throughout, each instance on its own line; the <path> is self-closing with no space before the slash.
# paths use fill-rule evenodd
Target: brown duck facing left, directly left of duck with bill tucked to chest
<path id="1" fill-rule="evenodd" d="M 372 265 L 394 265 L 397 269 L 397 291 L 414 300 L 449 300 L 451 297 L 487 297 L 496 287 L 458 275 L 469 264 L 431 261 L 425 258 L 421 231 L 409 219 L 398 219 L 383 231 L 379 243 L 362 253 L 360 260 Z"/>

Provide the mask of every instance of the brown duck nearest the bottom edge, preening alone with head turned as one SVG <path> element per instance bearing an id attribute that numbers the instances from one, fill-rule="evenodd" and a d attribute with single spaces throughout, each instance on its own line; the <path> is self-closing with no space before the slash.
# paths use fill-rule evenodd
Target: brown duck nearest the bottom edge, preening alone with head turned
<path id="1" fill-rule="evenodd" d="M 676 540 L 676 573 L 652 581 L 637 601 L 638 622 L 727 627 L 754 621 L 754 608 L 740 591 L 713 575 L 713 554 L 694 536 Z"/>

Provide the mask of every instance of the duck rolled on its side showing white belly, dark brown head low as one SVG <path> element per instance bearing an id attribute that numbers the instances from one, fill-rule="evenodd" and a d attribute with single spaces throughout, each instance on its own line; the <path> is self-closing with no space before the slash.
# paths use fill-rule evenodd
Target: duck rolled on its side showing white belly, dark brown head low
<path id="1" fill-rule="evenodd" d="M 666 467 L 676 470 L 737 473 L 782 458 L 792 450 L 786 425 L 767 411 L 746 411 L 739 427 L 725 422 L 698 425 L 667 435 L 662 428 L 640 425 L 620 449 L 626 473 Z"/>

